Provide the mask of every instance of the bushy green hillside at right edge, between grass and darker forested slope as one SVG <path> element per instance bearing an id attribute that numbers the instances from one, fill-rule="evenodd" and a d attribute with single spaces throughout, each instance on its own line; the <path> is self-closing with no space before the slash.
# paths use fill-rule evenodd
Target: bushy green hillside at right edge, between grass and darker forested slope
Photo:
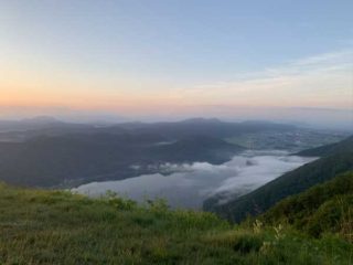
<path id="1" fill-rule="evenodd" d="M 287 223 L 311 235 L 341 233 L 353 242 L 353 172 L 289 197 L 267 211 L 269 224 Z"/>

